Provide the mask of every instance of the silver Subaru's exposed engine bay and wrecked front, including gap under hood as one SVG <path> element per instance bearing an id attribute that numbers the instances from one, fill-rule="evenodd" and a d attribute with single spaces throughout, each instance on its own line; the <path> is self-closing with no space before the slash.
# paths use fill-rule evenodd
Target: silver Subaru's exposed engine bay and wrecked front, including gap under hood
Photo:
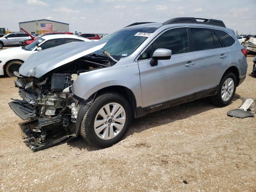
<path id="1" fill-rule="evenodd" d="M 80 73 L 114 65 L 107 56 L 90 54 L 60 66 L 40 78 L 16 73 L 15 86 L 22 100 L 12 99 L 10 108 L 22 120 L 22 138 L 33 151 L 48 148 L 76 133 L 78 103 L 70 86 Z"/>

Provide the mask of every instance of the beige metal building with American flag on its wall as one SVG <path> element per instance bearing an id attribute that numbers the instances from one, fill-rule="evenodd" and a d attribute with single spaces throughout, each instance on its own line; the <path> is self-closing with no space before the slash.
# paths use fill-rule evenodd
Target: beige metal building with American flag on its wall
<path id="1" fill-rule="evenodd" d="M 29 33 L 41 34 L 49 31 L 69 32 L 69 24 L 48 19 L 19 22 L 20 28 Z"/>

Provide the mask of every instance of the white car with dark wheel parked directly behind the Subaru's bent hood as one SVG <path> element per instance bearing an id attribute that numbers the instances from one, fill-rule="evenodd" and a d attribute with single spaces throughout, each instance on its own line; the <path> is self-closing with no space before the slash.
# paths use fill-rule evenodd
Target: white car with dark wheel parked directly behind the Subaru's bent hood
<path id="1" fill-rule="evenodd" d="M 92 41 L 84 37 L 76 35 L 59 34 L 47 35 L 38 38 L 33 43 L 22 46 L 9 48 L 0 51 L 0 75 L 6 73 L 9 77 L 14 76 L 14 72 L 18 71 L 20 66 L 28 57 L 38 51 L 55 47 L 61 44 L 74 42 L 74 41 Z"/>

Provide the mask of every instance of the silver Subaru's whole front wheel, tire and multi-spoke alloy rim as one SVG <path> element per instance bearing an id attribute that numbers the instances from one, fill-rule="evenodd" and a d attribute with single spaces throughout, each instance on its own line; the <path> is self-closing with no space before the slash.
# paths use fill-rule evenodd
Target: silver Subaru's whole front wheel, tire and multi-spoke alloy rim
<path id="1" fill-rule="evenodd" d="M 122 95 L 104 93 L 86 111 L 80 134 L 92 146 L 112 146 L 122 139 L 131 119 L 129 102 Z"/>

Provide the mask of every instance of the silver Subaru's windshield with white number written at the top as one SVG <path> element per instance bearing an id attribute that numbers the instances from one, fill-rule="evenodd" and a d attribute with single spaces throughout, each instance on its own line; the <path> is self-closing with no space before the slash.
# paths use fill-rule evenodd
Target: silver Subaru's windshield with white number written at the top
<path id="1" fill-rule="evenodd" d="M 100 39 L 100 41 L 108 40 L 108 42 L 94 54 L 103 55 L 106 51 L 114 59 L 120 60 L 132 54 L 156 29 L 155 27 L 142 27 L 118 30 Z"/>

